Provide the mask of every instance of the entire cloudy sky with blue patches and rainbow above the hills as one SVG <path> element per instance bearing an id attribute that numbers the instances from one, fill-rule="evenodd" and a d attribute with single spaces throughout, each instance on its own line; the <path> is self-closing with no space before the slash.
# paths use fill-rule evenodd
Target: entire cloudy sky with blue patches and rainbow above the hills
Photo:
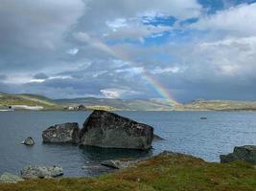
<path id="1" fill-rule="evenodd" d="M 0 0 L 0 92 L 256 100 L 256 0 Z"/>

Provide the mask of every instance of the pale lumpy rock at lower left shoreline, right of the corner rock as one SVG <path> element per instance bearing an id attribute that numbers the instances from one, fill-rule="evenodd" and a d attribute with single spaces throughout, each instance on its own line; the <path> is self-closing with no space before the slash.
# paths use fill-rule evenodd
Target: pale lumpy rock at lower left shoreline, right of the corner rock
<path id="1" fill-rule="evenodd" d="M 22 179 L 56 178 L 63 175 L 60 166 L 27 166 L 20 171 Z"/>

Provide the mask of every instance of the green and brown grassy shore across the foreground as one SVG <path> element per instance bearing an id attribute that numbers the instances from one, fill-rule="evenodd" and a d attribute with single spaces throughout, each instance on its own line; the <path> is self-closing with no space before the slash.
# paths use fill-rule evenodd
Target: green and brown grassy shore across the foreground
<path id="1" fill-rule="evenodd" d="M 192 156 L 160 155 L 98 178 L 25 180 L 0 184 L 3 191 L 251 191 L 256 169 L 242 161 L 211 163 Z"/>

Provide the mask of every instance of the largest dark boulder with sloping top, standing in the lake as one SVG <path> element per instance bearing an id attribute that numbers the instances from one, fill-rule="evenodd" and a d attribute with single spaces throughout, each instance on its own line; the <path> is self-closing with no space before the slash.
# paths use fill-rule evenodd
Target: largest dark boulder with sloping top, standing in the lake
<path id="1" fill-rule="evenodd" d="M 153 128 L 126 117 L 96 110 L 83 123 L 80 138 L 81 145 L 147 150 L 151 148 Z"/>

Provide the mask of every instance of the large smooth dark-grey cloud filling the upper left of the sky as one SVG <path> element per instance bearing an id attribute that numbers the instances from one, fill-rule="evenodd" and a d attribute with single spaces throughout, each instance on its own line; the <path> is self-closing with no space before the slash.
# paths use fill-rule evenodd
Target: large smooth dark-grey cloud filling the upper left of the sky
<path id="1" fill-rule="evenodd" d="M 0 70 L 26 72 L 53 65 L 68 46 L 65 33 L 83 11 L 81 0 L 1 1 Z"/>

